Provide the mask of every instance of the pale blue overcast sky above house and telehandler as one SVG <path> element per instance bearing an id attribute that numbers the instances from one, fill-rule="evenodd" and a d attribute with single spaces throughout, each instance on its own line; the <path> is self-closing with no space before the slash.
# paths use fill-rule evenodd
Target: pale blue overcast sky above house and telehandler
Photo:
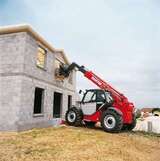
<path id="1" fill-rule="evenodd" d="M 0 0 L 0 25 L 31 24 L 136 107 L 160 105 L 159 0 Z M 93 88 L 77 74 L 77 88 Z"/>

